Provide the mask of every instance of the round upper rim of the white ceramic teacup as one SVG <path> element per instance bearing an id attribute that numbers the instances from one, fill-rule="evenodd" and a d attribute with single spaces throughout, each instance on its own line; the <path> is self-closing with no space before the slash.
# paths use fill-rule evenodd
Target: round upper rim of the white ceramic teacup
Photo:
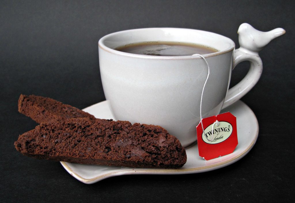
<path id="1" fill-rule="evenodd" d="M 198 55 L 188 55 L 188 56 L 154 56 L 154 55 L 142 55 L 142 54 L 134 54 L 134 53 L 126 53 L 126 52 L 122 52 L 122 51 L 118 51 L 118 50 L 114 50 L 112 48 L 107 47 L 104 44 L 104 41 L 109 38 L 112 37 L 113 35 L 118 35 L 124 32 L 132 32 L 135 30 L 151 30 L 151 29 L 178 29 L 178 30 L 194 30 L 194 31 L 199 31 L 199 32 L 204 32 L 204 33 L 210 33 L 210 34 L 214 34 L 218 37 L 222 37 L 224 38 L 224 40 L 228 40 L 228 42 L 230 42 L 230 47 L 218 51 L 218 52 L 214 52 L 214 53 L 209 53 L 209 54 L 203 54 L 202 56 L 205 58 L 208 57 L 212 57 L 212 56 L 217 56 L 217 55 L 222 55 L 224 53 L 230 52 L 232 50 L 235 49 L 235 42 L 232 41 L 230 38 L 225 37 L 223 35 L 219 35 L 217 33 L 214 32 L 209 32 L 209 31 L 205 31 L 205 30 L 197 30 L 197 29 L 189 29 L 189 28 L 174 28 L 174 27 L 149 27 L 149 28 L 139 28 L 139 29 L 130 29 L 130 30 L 122 30 L 122 31 L 118 31 L 118 32 L 113 32 L 110 33 L 108 35 L 105 35 L 104 37 L 101 37 L 101 39 L 98 41 L 98 46 L 99 48 L 101 48 L 102 50 L 105 50 L 109 53 L 113 53 L 113 54 L 118 54 L 118 55 L 124 55 L 124 56 L 128 56 L 128 57 L 133 57 L 133 58 L 151 58 L 151 59 L 191 59 L 191 58 L 201 58 Z"/>

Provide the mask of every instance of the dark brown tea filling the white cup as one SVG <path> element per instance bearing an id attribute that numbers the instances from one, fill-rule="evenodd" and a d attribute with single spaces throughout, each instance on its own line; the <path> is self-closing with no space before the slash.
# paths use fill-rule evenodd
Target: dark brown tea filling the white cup
<path id="1" fill-rule="evenodd" d="M 217 52 L 214 48 L 182 42 L 141 42 L 118 47 L 115 50 L 153 56 L 190 56 Z"/>

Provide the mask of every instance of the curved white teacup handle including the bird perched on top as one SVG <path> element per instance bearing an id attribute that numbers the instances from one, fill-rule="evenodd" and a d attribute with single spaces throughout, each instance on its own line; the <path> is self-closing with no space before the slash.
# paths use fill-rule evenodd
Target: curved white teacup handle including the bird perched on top
<path id="1" fill-rule="evenodd" d="M 250 69 L 238 84 L 227 91 L 222 109 L 242 98 L 258 82 L 262 73 L 262 61 L 258 52 L 271 40 L 285 33 L 286 31 L 282 28 L 261 32 L 247 23 L 240 25 L 238 30 L 240 48 L 235 50 L 232 69 L 245 60 L 250 61 Z"/>

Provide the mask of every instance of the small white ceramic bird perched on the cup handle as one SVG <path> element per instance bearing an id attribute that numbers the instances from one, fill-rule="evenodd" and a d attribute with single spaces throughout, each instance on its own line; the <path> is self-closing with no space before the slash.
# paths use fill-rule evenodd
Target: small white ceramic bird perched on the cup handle
<path id="1" fill-rule="evenodd" d="M 248 23 L 243 23 L 238 29 L 240 47 L 258 52 L 263 49 L 271 40 L 285 34 L 283 28 L 276 28 L 268 32 L 256 30 Z"/>

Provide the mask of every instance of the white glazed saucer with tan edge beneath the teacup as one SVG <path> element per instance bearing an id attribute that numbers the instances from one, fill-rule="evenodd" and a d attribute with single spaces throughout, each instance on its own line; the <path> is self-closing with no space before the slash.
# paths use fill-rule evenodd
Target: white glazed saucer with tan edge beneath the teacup
<path id="1" fill-rule="evenodd" d="M 94 104 L 83 109 L 93 114 L 96 118 L 113 119 L 107 101 Z M 245 156 L 254 146 L 258 137 L 258 122 L 252 110 L 242 101 L 237 101 L 222 110 L 231 112 L 237 117 L 238 145 L 231 154 L 205 161 L 199 156 L 198 146 L 194 144 L 186 149 L 187 162 L 180 169 L 150 169 L 150 168 L 127 168 L 114 166 L 85 165 L 68 162 L 60 162 L 65 170 L 79 181 L 92 184 L 100 180 L 129 174 L 188 174 L 212 171 L 228 166 Z"/>

